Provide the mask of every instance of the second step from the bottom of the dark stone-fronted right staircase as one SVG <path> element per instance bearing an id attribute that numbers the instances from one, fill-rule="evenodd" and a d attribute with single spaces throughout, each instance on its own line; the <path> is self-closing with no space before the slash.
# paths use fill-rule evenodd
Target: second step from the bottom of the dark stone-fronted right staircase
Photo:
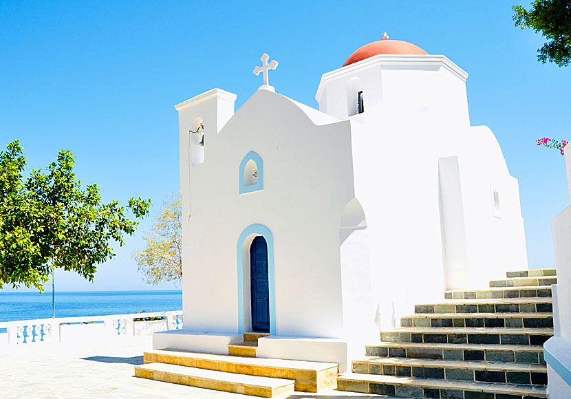
<path id="1" fill-rule="evenodd" d="M 529 363 L 369 357 L 354 360 L 353 372 L 441 380 L 547 385 L 547 366 Z"/>

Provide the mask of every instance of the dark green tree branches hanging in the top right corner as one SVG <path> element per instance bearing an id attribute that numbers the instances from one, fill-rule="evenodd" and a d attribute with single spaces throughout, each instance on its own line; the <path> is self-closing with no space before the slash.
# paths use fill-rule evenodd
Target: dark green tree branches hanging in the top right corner
<path id="1" fill-rule="evenodd" d="M 513 6 L 513 10 L 516 26 L 541 31 L 548 39 L 537 50 L 537 59 L 541 63 L 568 66 L 571 62 L 571 1 L 535 0 L 529 11 L 524 6 Z"/>

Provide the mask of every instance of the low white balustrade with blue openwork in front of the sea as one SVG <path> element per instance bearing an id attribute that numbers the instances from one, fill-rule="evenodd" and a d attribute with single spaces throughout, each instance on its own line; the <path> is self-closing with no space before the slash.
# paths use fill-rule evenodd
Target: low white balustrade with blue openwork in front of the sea
<path id="1" fill-rule="evenodd" d="M 182 311 L 0 322 L 1 345 L 39 345 L 182 329 Z"/>

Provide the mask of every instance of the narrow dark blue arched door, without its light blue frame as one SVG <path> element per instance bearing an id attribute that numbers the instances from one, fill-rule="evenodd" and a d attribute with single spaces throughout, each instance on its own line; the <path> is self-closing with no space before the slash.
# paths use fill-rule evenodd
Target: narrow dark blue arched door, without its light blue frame
<path id="1" fill-rule="evenodd" d="M 250 246 L 250 290 L 252 330 L 270 331 L 268 244 L 261 235 L 255 237 Z"/>

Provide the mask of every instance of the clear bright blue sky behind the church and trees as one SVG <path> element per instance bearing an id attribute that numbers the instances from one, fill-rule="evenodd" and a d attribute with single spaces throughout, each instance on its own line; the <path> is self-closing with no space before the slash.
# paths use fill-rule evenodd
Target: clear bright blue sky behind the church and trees
<path id="1" fill-rule="evenodd" d="M 491 127 L 519 179 L 530 267 L 552 267 L 550 219 L 569 202 L 565 166 L 535 139 L 571 138 L 571 69 L 537 62 L 543 38 L 515 28 L 514 4 L 3 0 L 0 147 L 19 139 L 29 168 L 69 149 L 80 180 L 100 184 L 104 200 L 147 197 L 156 210 L 179 188 L 173 105 L 219 87 L 240 107 L 261 84 L 252 69 L 268 52 L 279 61 L 277 91 L 316 107 L 321 74 L 386 31 L 470 74 L 471 124 Z M 95 283 L 58 272 L 56 290 L 173 288 L 137 274 L 129 255 L 142 248 L 140 232 L 98 268 Z"/>

